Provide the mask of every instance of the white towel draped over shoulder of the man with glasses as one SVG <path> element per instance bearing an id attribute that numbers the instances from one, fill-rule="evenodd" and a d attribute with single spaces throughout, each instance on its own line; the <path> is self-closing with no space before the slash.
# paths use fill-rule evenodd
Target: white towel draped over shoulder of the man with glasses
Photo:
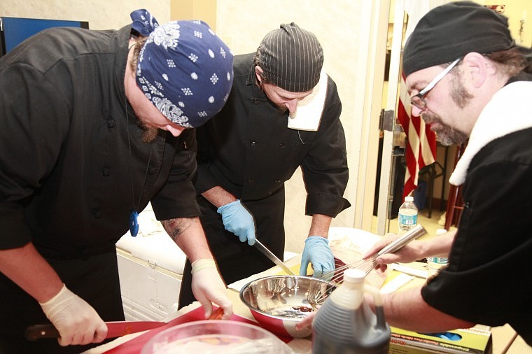
<path id="1" fill-rule="evenodd" d="M 532 82 L 510 83 L 493 94 L 480 113 L 449 183 L 465 182 L 472 158 L 490 141 L 529 127 L 532 127 Z"/>

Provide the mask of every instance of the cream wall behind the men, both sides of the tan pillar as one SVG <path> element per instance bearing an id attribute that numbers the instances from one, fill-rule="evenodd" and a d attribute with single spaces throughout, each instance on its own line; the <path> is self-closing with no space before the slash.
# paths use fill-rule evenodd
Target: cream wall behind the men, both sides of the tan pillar
<path id="1" fill-rule="evenodd" d="M 131 22 L 130 12 L 137 8 L 150 10 L 161 23 L 169 21 L 171 1 L 0 0 L 0 16 L 83 20 L 89 22 L 91 29 L 118 29 Z M 216 32 L 235 54 L 255 51 L 268 31 L 285 22 L 296 22 L 313 31 L 321 41 L 325 70 L 337 83 L 342 99 L 341 120 L 346 132 L 350 176 L 344 197 L 353 204 L 333 220 L 336 226 L 353 226 L 355 218 L 363 108 L 356 104 L 357 99 L 358 102 L 361 100 L 354 93 L 361 91 L 360 83 L 365 80 L 357 77 L 357 72 L 360 73 L 357 66 L 359 55 L 367 54 L 367 45 L 366 48 L 360 45 L 361 42 L 367 43 L 367 38 L 360 38 L 360 23 L 367 22 L 362 17 L 362 8 L 363 0 L 218 0 L 216 3 Z M 288 181 L 286 190 L 289 191 L 285 218 L 286 248 L 300 252 L 311 218 L 304 215 L 306 192 L 299 170 Z"/>

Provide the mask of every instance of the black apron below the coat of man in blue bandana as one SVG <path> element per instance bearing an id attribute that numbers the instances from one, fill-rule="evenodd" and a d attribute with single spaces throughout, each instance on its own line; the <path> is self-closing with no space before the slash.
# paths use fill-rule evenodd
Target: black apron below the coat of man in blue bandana
<path id="1" fill-rule="evenodd" d="M 125 320 L 116 251 L 82 260 L 48 259 L 48 262 L 65 282 L 66 288 L 94 307 L 104 321 Z M 50 321 L 38 302 L 0 274 L 0 354 L 81 353 L 102 345 L 62 347 L 57 339 L 25 339 L 27 326 L 45 323 Z"/>

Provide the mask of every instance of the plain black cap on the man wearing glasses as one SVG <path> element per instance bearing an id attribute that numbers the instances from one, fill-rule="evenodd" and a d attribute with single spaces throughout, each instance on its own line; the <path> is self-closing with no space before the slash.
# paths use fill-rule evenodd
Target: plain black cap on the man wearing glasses
<path id="1" fill-rule="evenodd" d="M 430 10 L 405 44 L 405 76 L 452 62 L 468 52 L 487 54 L 514 47 L 507 17 L 472 1 L 456 1 Z"/>

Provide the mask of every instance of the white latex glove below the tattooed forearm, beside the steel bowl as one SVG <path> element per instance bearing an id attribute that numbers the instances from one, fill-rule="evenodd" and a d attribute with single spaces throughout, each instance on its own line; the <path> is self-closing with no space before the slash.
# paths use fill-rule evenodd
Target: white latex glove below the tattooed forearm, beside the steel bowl
<path id="1" fill-rule="evenodd" d="M 232 316 L 232 302 L 225 295 L 225 284 L 218 274 L 214 260 L 201 259 L 192 263 L 192 292 L 205 310 L 205 318 L 212 313 L 212 302 L 223 309 L 222 320 Z"/>

